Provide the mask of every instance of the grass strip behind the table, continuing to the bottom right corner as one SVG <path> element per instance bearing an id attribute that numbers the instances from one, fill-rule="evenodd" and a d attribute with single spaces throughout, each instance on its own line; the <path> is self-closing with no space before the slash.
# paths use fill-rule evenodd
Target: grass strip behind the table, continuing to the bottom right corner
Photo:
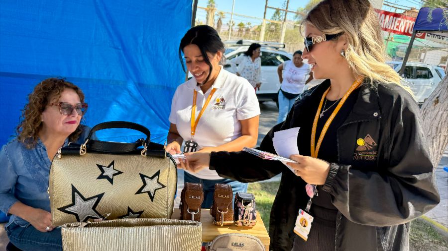
<path id="1" fill-rule="evenodd" d="M 250 183 L 247 192 L 255 195 L 256 206 L 261 214 L 264 226 L 269 232 L 269 215 L 272 203 L 277 194 L 280 182 Z M 448 234 L 448 233 L 447 233 Z M 411 232 L 409 236 L 410 251 L 448 251 L 447 237 L 440 235 L 426 221 L 417 219 L 411 222 Z"/>

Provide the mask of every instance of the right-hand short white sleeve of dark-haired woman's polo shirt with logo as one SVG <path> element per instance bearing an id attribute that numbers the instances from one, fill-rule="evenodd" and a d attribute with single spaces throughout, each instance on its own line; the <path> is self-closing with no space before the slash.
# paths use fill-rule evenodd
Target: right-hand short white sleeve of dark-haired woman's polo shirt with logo
<path id="1" fill-rule="evenodd" d="M 238 88 L 236 94 L 236 118 L 238 120 L 247 120 L 261 113 L 255 90 L 247 80 L 243 79 L 243 81 L 245 83 Z"/>

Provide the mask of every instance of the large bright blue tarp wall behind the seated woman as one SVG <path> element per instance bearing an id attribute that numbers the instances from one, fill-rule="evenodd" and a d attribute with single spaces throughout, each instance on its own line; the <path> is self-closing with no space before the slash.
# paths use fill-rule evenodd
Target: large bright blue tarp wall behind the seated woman
<path id="1" fill-rule="evenodd" d="M 0 1 L 0 145 L 14 136 L 33 87 L 57 76 L 84 91 L 85 124 L 130 121 L 163 142 L 185 79 L 178 47 L 191 16 L 192 0 Z M 98 136 L 132 142 L 141 134 Z"/>

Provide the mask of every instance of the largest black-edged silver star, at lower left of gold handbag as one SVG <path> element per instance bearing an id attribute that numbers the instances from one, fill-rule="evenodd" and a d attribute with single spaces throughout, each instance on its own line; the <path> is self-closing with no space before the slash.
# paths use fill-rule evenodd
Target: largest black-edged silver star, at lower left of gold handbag
<path id="1" fill-rule="evenodd" d="M 60 207 L 58 210 L 75 215 L 76 220 L 79 222 L 86 221 L 88 218 L 99 219 L 101 218 L 101 214 L 97 211 L 96 207 L 101 198 L 103 198 L 103 195 L 104 192 L 85 198 L 72 184 L 72 204 Z"/>

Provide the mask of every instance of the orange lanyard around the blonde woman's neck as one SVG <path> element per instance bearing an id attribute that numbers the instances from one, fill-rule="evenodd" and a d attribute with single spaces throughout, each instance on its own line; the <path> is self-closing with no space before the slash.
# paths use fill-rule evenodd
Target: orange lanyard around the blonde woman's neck
<path id="1" fill-rule="evenodd" d="M 319 136 L 319 140 L 318 140 L 316 148 L 315 148 L 314 145 L 315 145 L 315 140 L 316 140 L 317 122 L 319 120 L 319 115 L 321 114 L 322 104 L 324 103 L 324 99 L 327 96 L 327 93 L 330 91 L 331 87 L 329 87 L 324 92 L 324 94 L 322 95 L 321 103 L 319 104 L 319 108 L 316 112 L 316 116 L 314 117 L 313 128 L 311 130 L 311 157 L 317 158 L 318 153 L 319 153 L 319 148 L 321 148 L 322 140 L 324 140 L 324 136 L 325 136 L 325 133 L 327 132 L 328 127 L 330 126 L 330 124 L 332 124 L 333 119 L 336 117 L 336 114 L 339 112 L 339 110 L 342 107 L 342 105 L 344 104 L 345 100 L 347 100 L 348 96 L 353 92 L 354 89 L 358 88 L 358 86 L 362 83 L 363 79 L 364 79 L 363 77 L 359 77 L 358 79 L 356 79 L 356 81 L 354 81 L 353 84 L 351 85 L 350 89 L 348 89 L 348 91 L 342 97 L 339 104 L 337 104 L 335 111 L 333 111 L 332 115 L 330 115 L 330 118 L 328 118 L 327 122 L 325 123 L 324 127 L 322 128 L 321 135 Z"/>

